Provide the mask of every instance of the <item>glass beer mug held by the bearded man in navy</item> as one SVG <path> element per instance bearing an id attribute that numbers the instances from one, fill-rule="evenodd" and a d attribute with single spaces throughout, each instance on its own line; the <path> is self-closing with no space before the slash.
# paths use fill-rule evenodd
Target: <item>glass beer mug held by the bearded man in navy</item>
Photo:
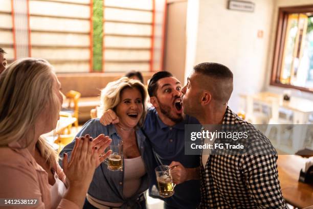
<path id="1" fill-rule="evenodd" d="M 171 168 L 169 166 L 158 166 L 155 168 L 159 193 L 161 197 L 170 197 L 174 194 L 175 184 L 173 183 Z"/>

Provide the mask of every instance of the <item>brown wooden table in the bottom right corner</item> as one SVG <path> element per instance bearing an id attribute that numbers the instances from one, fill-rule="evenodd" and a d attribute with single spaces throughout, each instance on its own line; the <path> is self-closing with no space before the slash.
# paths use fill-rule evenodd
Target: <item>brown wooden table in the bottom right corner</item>
<path id="1" fill-rule="evenodd" d="M 278 155 L 278 175 L 287 203 L 303 208 L 313 205 L 313 185 L 299 182 L 299 174 L 307 158 L 298 155 Z"/>

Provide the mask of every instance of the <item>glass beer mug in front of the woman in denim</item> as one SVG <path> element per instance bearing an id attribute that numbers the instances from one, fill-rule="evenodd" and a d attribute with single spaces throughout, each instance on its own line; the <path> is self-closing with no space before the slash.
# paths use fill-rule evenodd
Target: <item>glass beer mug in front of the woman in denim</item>
<path id="1" fill-rule="evenodd" d="M 123 143 L 118 145 L 110 145 L 109 149 L 112 153 L 106 160 L 107 169 L 110 171 L 122 171 L 123 170 Z"/>

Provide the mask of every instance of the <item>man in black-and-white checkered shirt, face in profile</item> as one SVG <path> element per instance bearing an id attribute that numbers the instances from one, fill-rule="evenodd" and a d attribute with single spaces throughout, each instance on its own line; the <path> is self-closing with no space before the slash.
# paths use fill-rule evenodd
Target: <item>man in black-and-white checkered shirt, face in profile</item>
<path id="1" fill-rule="evenodd" d="M 242 141 L 250 144 L 248 152 L 202 154 L 202 198 L 198 208 L 286 208 L 278 180 L 276 150 L 260 131 L 228 107 L 232 91 L 233 74 L 218 63 L 194 66 L 182 89 L 184 113 L 202 125 L 243 125 L 253 130 Z"/>

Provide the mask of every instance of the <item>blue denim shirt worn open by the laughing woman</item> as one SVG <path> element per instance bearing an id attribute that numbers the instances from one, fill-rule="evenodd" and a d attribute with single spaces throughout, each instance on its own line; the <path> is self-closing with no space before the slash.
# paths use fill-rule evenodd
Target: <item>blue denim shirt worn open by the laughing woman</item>
<path id="1" fill-rule="evenodd" d="M 121 137 L 118 135 L 115 126 L 112 124 L 103 126 L 99 119 L 91 119 L 86 122 L 76 137 L 84 136 L 85 134 L 89 134 L 93 138 L 97 137 L 99 134 L 109 136 L 112 139 L 111 145 L 118 145 L 121 141 Z M 153 162 L 154 157 L 152 155 L 151 146 L 147 142 L 146 137 L 140 128 L 136 128 L 136 138 L 146 171 L 154 169 L 150 168 L 150 166 L 155 163 Z M 71 144 L 64 147 L 64 149 L 60 152 L 60 156 L 62 156 L 64 152 L 70 155 L 69 152 L 73 150 L 74 145 L 75 140 Z M 147 172 L 142 177 L 140 188 L 136 194 L 126 199 L 123 197 L 124 170 L 109 171 L 107 169 L 107 165 L 102 162 L 102 164 L 95 171 L 88 194 L 102 201 L 116 203 L 122 202 L 123 205 L 121 208 L 126 208 L 127 206 L 131 206 L 131 208 L 138 208 L 139 205 L 136 204 L 137 198 L 149 188 L 150 180 L 150 172 Z"/>

